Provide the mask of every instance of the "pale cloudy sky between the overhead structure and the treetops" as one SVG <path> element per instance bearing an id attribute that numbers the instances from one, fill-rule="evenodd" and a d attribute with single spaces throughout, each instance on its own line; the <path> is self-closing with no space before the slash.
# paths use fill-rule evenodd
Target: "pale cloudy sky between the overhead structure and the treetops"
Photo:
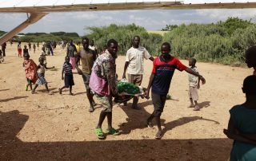
<path id="1" fill-rule="evenodd" d="M 26 20 L 26 14 L 1 15 L 0 30 L 10 31 Z M 149 30 L 160 30 L 166 25 L 182 23 L 211 23 L 225 21 L 228 17 L 238 17 L 256 22 L 255 9 L 243 10 L 126 10 L 126 11 L 87 11 L 50 13 L 22 33 L 29 32 L 76 32 L 84 35 L 87 26 L 108 26 L 111 23 L 126 25 L 134 23 Z"/>

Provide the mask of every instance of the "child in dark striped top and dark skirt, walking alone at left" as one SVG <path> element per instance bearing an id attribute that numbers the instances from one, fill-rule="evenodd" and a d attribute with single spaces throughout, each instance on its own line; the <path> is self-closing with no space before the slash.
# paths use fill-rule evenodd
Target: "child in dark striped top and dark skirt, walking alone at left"
<path id="1" fill-rule="evenodd" d="M 65 74 L 65 77 L 63 77 Z M 70 57 L 65 57 L 65 62 L 62 68 L 62 80 L 64 80 L 64 86 L 62 88 L 58 88 L 59 94 L 62 94 L 63 88 L 70 88 L 70 95 L 74 96 L 72 93 L 72 86 L 74 85 L 74 77 L 72 73 L 72 65 L 70 64 Z"/>

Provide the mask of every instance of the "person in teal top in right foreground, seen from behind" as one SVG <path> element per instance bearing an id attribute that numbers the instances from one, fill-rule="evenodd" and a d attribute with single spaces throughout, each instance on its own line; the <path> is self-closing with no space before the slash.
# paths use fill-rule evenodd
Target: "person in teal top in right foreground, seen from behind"
<path id="1" fill-rule="evenodd" d="M 246 102 L 230 109 L 230 121 L 224 134 L 234 139 L 230 161 L 256 160 L 256 76 L 246 77 L 242 92 Z"/>

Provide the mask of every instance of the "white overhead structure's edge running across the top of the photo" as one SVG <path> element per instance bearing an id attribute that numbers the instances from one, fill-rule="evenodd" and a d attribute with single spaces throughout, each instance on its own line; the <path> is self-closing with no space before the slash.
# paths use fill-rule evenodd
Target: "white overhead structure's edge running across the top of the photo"
<path id="1" fill-rule="evenodd" d="M 255 0 L 0 0 L 0 12 L 255 8 Z"/>

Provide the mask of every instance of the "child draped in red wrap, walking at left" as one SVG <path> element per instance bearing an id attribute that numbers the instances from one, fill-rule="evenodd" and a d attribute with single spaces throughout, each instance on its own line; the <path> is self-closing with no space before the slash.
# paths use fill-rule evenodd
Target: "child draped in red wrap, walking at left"
<path id="1" fill-rule="evenodd" d="M 26 81 L 27 81 L 26 91 L 30 86 L 30 90 L 32 92 L 32 83 L 35 84 L 35 82 L 38 80 L 37 65 L 34 63 L 32 59 L 30 59 L 30 55 L 28 53 L 25 53 L 23 57 L 24 57 L 23 67 L 25 68 Z"/>

